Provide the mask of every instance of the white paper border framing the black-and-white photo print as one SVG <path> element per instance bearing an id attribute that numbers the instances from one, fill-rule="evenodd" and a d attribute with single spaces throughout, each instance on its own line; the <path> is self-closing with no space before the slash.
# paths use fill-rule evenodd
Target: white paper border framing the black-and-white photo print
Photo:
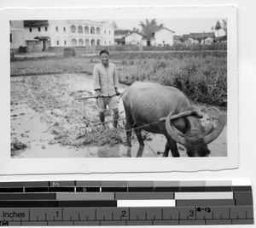
<path id="1" fill-rule="evenodd" d="M 10 157 L 9 20 L 132 20 L 139 18 L 227 18 L 228 111 L 227 157 L 153 158 L 22 158 Z M 235 6 L 155 6 L 82 9 L 3 9 L 0 11 L 1 131 L 0 175 L 9 174 L 112 174 L 194 172 L 238 168 L 238 73 Z"/>

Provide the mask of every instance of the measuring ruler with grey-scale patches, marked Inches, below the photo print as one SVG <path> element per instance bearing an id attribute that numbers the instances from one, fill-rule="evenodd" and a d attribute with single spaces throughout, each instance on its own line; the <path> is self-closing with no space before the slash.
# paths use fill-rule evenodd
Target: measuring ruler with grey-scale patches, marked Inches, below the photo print
<path id="1" fill-rule="evenodd" d="M 0 182 L 0 225 L 253 224 L 250 181 Z"/>

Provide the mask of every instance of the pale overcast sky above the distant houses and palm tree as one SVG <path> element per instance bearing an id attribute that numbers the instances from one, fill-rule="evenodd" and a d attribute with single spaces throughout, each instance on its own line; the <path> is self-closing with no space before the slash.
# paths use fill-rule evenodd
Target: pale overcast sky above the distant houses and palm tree
<path id="1" fill-rule="evenodd" d="M 141 20 L 110 20 L 115 21 L 119 29 L 132 30 L 133 27 L 141 29 L 139 26 L 140 21 L 145 23 L 146 19 Z M 149 19 L 151 20 L 151 19 Z M 204 18 L 204 19 L 156 19 L 157 24 L 164 24 L 164 26 L 172 31 L 175 31 L 176 35 L 189 34 L 190 32 L 211 32 L 212 26 L 216 25 L 217 21 L 222 23 L 222 18 Z M 219 35 L 223 31 L 219 31 Z"/>

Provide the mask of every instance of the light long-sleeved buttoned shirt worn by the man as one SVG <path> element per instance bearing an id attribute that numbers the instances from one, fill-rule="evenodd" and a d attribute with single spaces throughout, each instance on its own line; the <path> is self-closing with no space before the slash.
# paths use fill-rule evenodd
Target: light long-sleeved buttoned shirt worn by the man
<path id="1" fill-rule="evenodd" d="M 119 77 L 113 63 L 108 63 L 108 67 L 102 63 L 93 68 L 93 87 L 94 90 L 101 89 L 100 96 L 113 96 L 115 89 L 119 87 Z"/>

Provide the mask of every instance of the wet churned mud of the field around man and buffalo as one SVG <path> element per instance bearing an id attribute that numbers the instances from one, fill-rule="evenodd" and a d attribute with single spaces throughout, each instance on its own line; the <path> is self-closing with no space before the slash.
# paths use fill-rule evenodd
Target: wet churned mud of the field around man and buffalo
<path id="1" fill-rule="evenodd" d="M 122 89 L 125 89 L 123 87 Z M 161 157 L 166 139 L 144 132 L 146 146 L 142 149 L 133 135 L 131 150 L 125 146 L 123 123 L 117 130 L 84 136 L 84 110 L 76 98 L 92 95 L 91 76 L 81 74 L 11 77 L 11 155 L 12 157 Z M 96 100 L 86 101 L 86 116 L 98 123 Z M 207 106 L 197 106 L 209 121 Z M 125 117 L 121 100 L 120 116 Z M 106 120 L 112 120 L 108 112 Z M 218 140 L 209 145 L 212 157 L 227 156 L 226 128 Z M 186 157 L 183 146 L 179 146 Z"/>

